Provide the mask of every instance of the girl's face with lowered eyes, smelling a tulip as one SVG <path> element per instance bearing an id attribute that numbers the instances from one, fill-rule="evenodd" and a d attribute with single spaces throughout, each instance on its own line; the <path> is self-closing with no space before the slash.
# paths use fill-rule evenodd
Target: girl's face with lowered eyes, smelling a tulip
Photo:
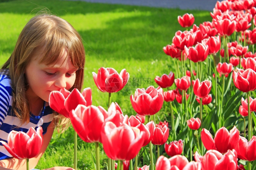
<path id="1" fill-rule="evenodd" d="M 51 91 L 59 91 L 62 88 L 69 90 L 76 79 L 78 68 L 71 63 L 66 49 L 63 49 L 62 57 L 53 65 L 39 63 L 42 57 L 43 49 L 35 52 L 25 69 L 29 87 L 26 94 L 30 101 L 41 98 L 49 102 Z"/>

